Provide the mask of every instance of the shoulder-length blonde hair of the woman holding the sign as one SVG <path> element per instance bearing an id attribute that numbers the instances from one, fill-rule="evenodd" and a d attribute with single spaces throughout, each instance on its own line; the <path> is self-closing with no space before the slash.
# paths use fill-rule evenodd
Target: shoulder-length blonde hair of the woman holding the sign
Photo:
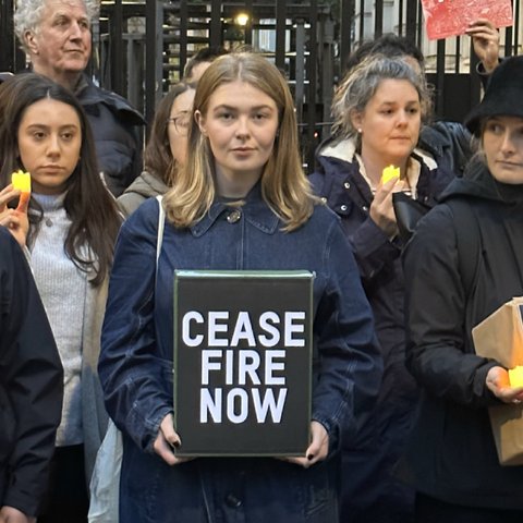
<path id="1" fill-rule="evenodd" d="M 198 82 L 194 111 L 207 113 L 218 87 L 245 82 L 270 96 L 278 108 L 278 131 L 272 154 L 262 173 L 262 194 L 284 222 L 284 230 L 302 226 L 312 215 L 316 198 L 300 158 L 294 104 L 280 71 L 262 54 L 239 52 L 215 60 Z M 209 141 L 191 123 L 186 163 L 163 198 L 168 219 L 179 228 L 199 221 L 216 197 L 215 158 Z"/>

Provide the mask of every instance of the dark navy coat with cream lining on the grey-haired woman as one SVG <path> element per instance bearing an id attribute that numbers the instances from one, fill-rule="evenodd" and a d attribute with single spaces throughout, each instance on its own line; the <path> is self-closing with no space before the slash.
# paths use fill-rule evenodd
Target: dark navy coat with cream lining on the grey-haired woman
<path id="1" fill-rule="evenodd" d="M 465 161 L 463 148 L 470 143 L 470 136 L 462 126 L 450 123 L 427 127 L 423 136 L 426 150 L 416 149 L 412 154 L 421 163 L 416 198 L 431 207 L 454 179 L 454 167 Z M 373 308 L 384 358 L 384 378 L 375 409 L 361 419 L 355 439 L 342 439 L 342 519 L 408 521 L 413 490 L 392 477 L 412 427 L 419 393 L 405 367 L 404 282 L 400 258 L 404 245 L 399 238 L 390 241 L 370 219 L 373 194 L 350 148 L 350 143 L 338 144 L 336 138 L 323 144 L 318 149 L 318 169 L 311 177 L 317 194 L 341 217 Z"/>

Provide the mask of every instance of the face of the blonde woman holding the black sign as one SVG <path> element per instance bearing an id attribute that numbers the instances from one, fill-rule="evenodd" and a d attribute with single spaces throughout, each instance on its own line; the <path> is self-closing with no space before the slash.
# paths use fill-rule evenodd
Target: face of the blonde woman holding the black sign
<path id="1" fill-rule="evenodd" d="M 241 197 L 259 180 L 272 154 L 278 130 L 275 100 L 253 85 L 235 81 L 211 95 L 205 114 L 196 111 L 215 157 L 218 192 Z"/>

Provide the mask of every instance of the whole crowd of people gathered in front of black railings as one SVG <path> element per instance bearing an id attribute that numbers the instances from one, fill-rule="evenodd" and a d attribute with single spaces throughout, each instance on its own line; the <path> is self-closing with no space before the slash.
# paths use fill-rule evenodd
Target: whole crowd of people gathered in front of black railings
<path id="1" fill-rule="evenodd" d="M 254 50 L 195 54 L 143 147 L 139 112 L 85 73 L 97 9 L 19 1 L 29 66 L 0 82 L 0 523 L 92 521 L 108 426 L 97 523 L 520 522 L 489 410 L 523 387 L 472 329 L 523 294 L 523 57 L 471 24 L 485 95 L 434 122 L 422 52 L 363 42 L 307 175 L 288 83 Z M 425 209 L 408 236 L 400 195 Z M 174 271 L 202 269 L 314 275 L 299 455 L 181 452 Z"/>

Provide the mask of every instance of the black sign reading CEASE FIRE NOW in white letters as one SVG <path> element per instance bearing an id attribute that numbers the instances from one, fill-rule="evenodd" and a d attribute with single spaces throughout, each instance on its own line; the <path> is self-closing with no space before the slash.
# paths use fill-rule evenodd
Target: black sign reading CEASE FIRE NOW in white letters
<path id="1" fill-rule="evenodd" d="M 303 455 L 313 275 L 174 272 L 178 455 Z"/>

